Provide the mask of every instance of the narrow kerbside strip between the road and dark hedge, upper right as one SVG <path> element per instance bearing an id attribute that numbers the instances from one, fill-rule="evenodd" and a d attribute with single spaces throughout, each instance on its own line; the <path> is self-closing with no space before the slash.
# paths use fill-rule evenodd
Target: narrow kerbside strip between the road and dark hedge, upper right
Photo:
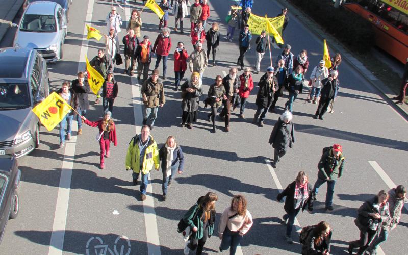
<path id="1" fill-rule="evenodd" d="M 331 50 L 331 52 L 338 52 L 341 53 L 342 60 L 346 60 L 349 65 L 354 67 L 356 71 L 358 71 L 369 83 L 371 83 L 375 88 L 377 88 L 384 96 L 385 99 L 388 101 L 388 104 L 394 107 L 398 112 L 402 114 L 403 117 L 408 118 L 408 105 L 397 105 L 392 101 L 390 98 L 396 96 L 393 91 L 389 87 L 387 87 L 383 82 L 378 80 L 370 70 L 368 70 L 358 59 L 354 58 L 351 54 L 350 50 L 345 48 L 334 36 L 327 34 L 323 31 L 322 27 L 318 23 L 316 23 L 311 17 L 307 14 L 302 12 L 299 8 L 295 7 L 287 0 L 277 0 L 278 3 L 283 5 L 284 7 L 288 8 L 291 16 L 297 16 L 301 22 L 303 22 L 307 27 L 317 36 L 323 39 L 326 39 L 327 44 Z"/>

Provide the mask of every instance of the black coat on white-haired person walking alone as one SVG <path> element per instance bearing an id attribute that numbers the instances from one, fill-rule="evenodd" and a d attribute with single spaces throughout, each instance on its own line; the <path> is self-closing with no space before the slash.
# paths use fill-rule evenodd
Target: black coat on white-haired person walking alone
<path id="1" fill-rule="evenodd" d="M 281 120 L 279 117 L 278 121 L 273 126 L 271 136 L 269 137 L 269 144 L 277 150 L 286 151 L 288 147 L 293 147 L 295 143 L 295 127 L 292 121 L 288 124 Z"/>

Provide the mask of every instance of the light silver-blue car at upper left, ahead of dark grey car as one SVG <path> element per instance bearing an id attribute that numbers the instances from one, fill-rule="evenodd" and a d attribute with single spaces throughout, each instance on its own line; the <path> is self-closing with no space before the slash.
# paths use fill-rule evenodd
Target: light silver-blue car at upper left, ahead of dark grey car
<path id="1" fill-rule="evenodd" d="M 17 27 L 17 24 L 12 25 Z M 56 62 L 63 57 L 66 34 L 67 18 L 58 3 L 33 2 L 21 17 L 14 46 L 34 48 L 47 62 Z"/>

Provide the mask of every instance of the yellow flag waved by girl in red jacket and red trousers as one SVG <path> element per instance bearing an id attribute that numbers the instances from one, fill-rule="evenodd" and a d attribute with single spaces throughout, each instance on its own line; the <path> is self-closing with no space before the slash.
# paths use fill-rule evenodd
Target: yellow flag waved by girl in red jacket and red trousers
<path id="1" fill-rule="evenodd" d="M 52 131 L 71 109 L 72 107 L 67 101 L 56 92 L 53 92 L 34 107 L 32 111 L 37 115 L 45 128 L 48 131 Z"/>

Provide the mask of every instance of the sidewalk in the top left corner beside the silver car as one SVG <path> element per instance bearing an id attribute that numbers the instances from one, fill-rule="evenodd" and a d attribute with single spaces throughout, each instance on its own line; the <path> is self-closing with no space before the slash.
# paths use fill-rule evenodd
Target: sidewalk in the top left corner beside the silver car
<path id="1" fill-rule="evenodd" d="M 0 0 L 0 41 L 11 27 L 14 17 L 20 10 L 24 0 Z"/>

